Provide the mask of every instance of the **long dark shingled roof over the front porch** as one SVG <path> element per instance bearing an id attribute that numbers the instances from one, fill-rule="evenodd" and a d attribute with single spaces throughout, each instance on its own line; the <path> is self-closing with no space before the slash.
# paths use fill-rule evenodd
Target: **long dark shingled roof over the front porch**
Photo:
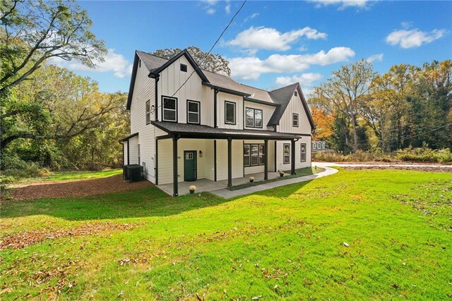
<path id="1" fill-rule="evenodd" d="M 182 138 L 211 138 L 211 139 L 227 139 L 232 137 L 235 139 L 271 139 L 271 140 L 290 140 L 297 139 L 302 134 L 280 133 L 271 130 L 234 130 L 227 128 L 213 128 L 208 125 L 196 125 L 189 123 L 174 123 L 167 121 L 151 121 L 153 125 L 160 130 L 164 130 L 168 134 L 180 135 Z"/>

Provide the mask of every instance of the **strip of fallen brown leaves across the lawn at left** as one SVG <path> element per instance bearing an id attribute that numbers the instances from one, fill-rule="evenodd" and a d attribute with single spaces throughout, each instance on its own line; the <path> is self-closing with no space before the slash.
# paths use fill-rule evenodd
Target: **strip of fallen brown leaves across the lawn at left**
<path id="1" fill-rule="evenodd" d="M 140 226 L 140 224 L 129 223 L 87 223 L 82 226 L 78 226 L 70 229 L 57 229 L 50 228 L 47 230 L 31 230 L 21 233 L 13 233 L 6 235 L 0 239 L 0 250 L 4 250 L 7 247 L 12 249 L 21 249 L 28 247 L 38 242 L 42 242 L 46 239 L 54 240 L 57 238 L 65 238 L 69 236 L 81 236 L 92 235 L 100 232 L 109 232 L 115 230 L 130 230 Z"/>

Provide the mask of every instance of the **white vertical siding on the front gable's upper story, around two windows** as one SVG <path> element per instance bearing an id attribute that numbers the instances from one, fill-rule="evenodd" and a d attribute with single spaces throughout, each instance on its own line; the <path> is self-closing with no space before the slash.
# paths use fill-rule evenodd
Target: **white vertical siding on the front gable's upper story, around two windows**
<path id="1" fill-rule="evenodd" d="M 184 64 L 187 66 L 187 71 L 181 71 L 180 66 Z M 162 96 L 177 98 L 177 122 L 187 123 L 186 116 L 186 102 L 187 100 L 194 100 L 201 102 L 201 125 L 213 126 L 213 90 L 210 87 L 201 85 L 201 78 L 194 72 L 185 56 L 181 56 L 174 61 L 165 70 L 160 73 L 160 80 L 157 83 L 159 104 L 158 120 L 163 121 L 162 116 Z M 193 75 L 191 75 L 193 73 Z M 189 76 L 191 75 L 191 78 Z M 189 80 L 184 84 L 184 82 Z M 182 86 L 182 84 L 184 84 Z M 182 87 L 181 87 L 182 86 Z M 181 87 L 179 89 L 179 87 Z M 179 91 L 177 91 L 179 89 Z M 177 91 L 177 92 L 176 92 Z"/>

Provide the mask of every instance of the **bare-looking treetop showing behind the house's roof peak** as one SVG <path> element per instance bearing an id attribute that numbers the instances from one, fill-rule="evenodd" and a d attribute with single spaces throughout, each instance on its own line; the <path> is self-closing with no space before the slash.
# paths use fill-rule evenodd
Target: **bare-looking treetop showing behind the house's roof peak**
<path id="1" fill-rule="evenodd" d="M 224 73 L 231 75 L 231 69 L 229 68 L 229 62 L 220 56 L 220 54 L 207 54 L 198 47 L 190 46 L 187 48 L 189 54 L 193 57 L 194 61 L 198 64 L 199 68 L 208 70 L 214 73 Z M 172 59 L 181 52 L 179 48 L 167 48 L 154 51 L 152 54 L 160 56 L 165 59 Z"/>

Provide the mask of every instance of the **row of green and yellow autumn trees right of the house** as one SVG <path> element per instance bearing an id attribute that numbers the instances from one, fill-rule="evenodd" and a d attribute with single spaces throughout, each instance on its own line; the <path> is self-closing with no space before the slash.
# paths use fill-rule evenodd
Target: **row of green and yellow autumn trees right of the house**
<path id="1" fill-rule="evenodd" d="M 379 74 L 369 61 L 342 66 L 314 87 L 316 139 L 345 154 L 452 147 L 452 61 L 399 64 Z"/>

